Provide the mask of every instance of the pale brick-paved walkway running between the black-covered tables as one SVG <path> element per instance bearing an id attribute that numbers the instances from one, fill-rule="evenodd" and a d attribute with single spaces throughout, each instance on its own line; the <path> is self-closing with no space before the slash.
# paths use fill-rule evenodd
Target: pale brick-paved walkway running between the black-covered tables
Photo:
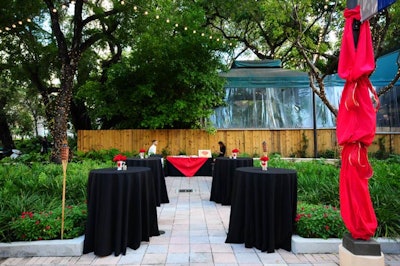
<path id="1" fill-rule="evenodd" d="M 339 265 L 338 254 L 265 253 L 243 244 L 225 244 L 230 206 L 209 201 L 211 177 L 166 177 L 169 204 L 157 208 L 165 234 L 142 242 L 125 256 L 0 258 L 0 265 Z M 179 189 L 193 192 L 179 192 Z M 385 254 L 386 266 L 400 255 Z"/>

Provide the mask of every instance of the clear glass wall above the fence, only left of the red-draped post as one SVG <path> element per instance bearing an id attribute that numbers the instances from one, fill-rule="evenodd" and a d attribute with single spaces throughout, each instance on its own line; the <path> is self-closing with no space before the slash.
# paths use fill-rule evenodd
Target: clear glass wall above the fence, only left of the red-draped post
<path id="1" fill-rule="evenodd" d="M 332 92 L 336 92 L 332 89 Z M 339 93 L 330 98 L 337 102 Z M 226 106 L 215 110 L 216 128 L 312 128 L 310 88 L 226 88 Z M 335 117 L 316 97 L 317 127 L 335 127 Z"/>

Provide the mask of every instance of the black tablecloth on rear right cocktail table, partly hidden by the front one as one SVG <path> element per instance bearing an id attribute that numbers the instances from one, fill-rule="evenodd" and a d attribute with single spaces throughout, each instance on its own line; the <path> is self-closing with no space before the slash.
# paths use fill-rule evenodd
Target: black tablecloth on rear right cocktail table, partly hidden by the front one
<path id="1" fill-rule="evenodd" d="M 222 205 L 231 205 L 232 183 L 238 167 L 253 166 L 253 158 L 215 159 L 210 200 Z"/>

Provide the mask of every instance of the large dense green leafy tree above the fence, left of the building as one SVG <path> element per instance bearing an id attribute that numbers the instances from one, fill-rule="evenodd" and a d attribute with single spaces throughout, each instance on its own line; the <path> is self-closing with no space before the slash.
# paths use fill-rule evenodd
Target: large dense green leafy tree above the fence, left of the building
<path id="1" fill-rule="evenodd" d="M 147 17 L 138 18 L 145 27 L 124 27 L 125 34 L 140 32 L 140 38 L 126 40 L 131 49 L 108 69 L 107 82 L 96 71 L 80 86 L 76 96 L 90 106 L 96 126 L 208 128 L 203 121 L 223 104 L 225 81 L 218 71 L 224 66 L 215 51 L 226 48 L 201 36 L 211 34 L 201 26 L 206 23 L 202 9 L 190 2 L 157 5 L 162 14 L 150 9 Z"/>

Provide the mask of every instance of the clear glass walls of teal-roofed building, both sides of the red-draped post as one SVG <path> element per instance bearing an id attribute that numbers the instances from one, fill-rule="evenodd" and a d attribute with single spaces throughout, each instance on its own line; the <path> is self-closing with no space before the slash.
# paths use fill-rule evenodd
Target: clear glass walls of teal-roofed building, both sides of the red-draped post
<path id="1" fill-rule="evenodd" d="M 342 86 L 326 88 L 329 102 L 338 108 Z M 377 132 L 400 132 L 400 86 L 380 98 Z M 211 116 L 216 128 L 313 128 L 310 88 L 226 88 L 226 106 Z M 315 97 L 318 128 L 335 128 L 336 117 Z"/>

